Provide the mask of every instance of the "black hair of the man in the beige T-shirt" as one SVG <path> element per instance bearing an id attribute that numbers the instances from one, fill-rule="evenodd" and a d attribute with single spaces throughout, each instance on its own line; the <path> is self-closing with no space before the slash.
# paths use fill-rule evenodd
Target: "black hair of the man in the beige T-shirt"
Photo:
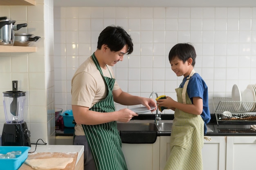
<path id="1" fill-rule="evenodd" d="M 111 51 L 120 51 L 128 44 L 127 54 L 132 53 L 133 43 L 132 38 L 121 26 L 107 26 L 101 31 L 98 39 L 97 49 L 106 44 Z"/>

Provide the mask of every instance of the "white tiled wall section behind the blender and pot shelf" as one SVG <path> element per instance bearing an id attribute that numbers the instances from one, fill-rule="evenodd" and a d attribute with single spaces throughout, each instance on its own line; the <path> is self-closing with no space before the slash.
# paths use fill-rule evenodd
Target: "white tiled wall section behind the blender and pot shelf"
<path id="1" fill-rule="evenodd" d="M 26 91 L 25 121 L 31 132 L 31 143 L 38 139 L 54 144 L 54 29 L 53 0 L 36 0 L 32 6 L 0 6 L 0 16 L 27 23 L 15 33 L 31 33 L 41 38 L 31 42 L 35 53 L 0 53 L 0 92 L 12 90 L 12 80 L 18 89 Z M 5 122 L 0 97 L 0 134 Z"/>

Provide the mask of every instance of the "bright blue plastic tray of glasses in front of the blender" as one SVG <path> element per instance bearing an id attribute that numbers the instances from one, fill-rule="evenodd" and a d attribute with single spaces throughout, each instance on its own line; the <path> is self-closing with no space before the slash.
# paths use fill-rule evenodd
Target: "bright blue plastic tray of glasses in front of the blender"
<path id="1" fill-rule="evenodd" d="M 18 170 L 22 163 L 27 159 L 29 146 L 0 146 L 0 153 L 6 154 L 7 152 L 20 150 L 21 155 L 16 155 L 16 158 L 0 159 L 0 170 Z"/>

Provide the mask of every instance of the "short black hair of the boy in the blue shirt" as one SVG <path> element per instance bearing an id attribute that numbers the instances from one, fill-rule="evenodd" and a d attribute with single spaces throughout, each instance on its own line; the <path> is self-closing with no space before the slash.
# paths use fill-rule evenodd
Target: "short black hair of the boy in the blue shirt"
<path id="1" fill-rule="evenodd" d="M 189 58 L 192 58 L 192 66 L 195 66 L 196 53 L 194 46 L 190 43 L 176 44 L 169 53 L 169 62 L 171 62 L 175 57 L 178 57 L 183 61 L 183 63 L 185 63 Z"/>

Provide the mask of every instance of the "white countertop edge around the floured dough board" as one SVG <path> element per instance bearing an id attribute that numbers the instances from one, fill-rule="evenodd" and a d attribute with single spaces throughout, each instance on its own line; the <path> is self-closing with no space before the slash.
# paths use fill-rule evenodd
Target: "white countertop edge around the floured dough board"
<path id="1" fill-rule="evenodd" d="M 77 152 L 75 170 L 83 170 L 84 146 L 81 145 L 35 145 L 31 144 L 29 152 Z M 30 155 L 31 153 L 29 153 Z"/>

